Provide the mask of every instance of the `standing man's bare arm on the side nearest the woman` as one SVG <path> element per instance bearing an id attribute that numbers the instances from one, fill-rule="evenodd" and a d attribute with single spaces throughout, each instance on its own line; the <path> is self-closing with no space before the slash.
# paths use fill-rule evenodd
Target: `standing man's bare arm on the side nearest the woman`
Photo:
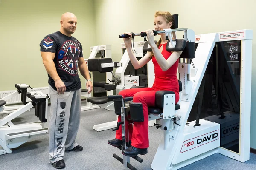
<path id="1" fill-rule="evenodd" d="M 79 68 L 79 71 L 80 71 L 81 75 L 86 80 L 89 80 L 90 79 L 89 71 L 88 71 L 87 65 L 86 65 L 83 57 L 78 58 L 78 68 Z M 90 93 L 93 90 L 92 82 L 87 81 L 86 88 L 88 89 L 88 87 L 90 87 L 90 89 L 88 91 L 88 93 Z"/>

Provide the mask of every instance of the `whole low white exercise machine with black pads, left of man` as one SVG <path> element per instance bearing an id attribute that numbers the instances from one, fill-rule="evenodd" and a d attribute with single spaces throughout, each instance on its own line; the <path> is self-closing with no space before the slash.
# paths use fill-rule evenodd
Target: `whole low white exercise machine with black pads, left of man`
<path id="1" fill-rule="evenodd" d="M 45 128 L 45 122 L 47 122 L 48 95 L 41 92 L 27 92 L 23 94 L 23 99 L 26 99 L 26 96 L 31 99 L 31 102 L 26 103 L 26 100 L 23 100 L 24 105 L 22 107 L 0 119 L 0 155 L 12 153 L 12 148 L 19 147 L 23 143 L 33 139 L 34 136 L 48 134 L 48 128 Z M 0 107 L 5 103 L 6 101 L 0 100 Z M 35 116 L 40 121 L 19 125 L 12 123 L 13 119 L 33 107 L 35 107 Z"/>

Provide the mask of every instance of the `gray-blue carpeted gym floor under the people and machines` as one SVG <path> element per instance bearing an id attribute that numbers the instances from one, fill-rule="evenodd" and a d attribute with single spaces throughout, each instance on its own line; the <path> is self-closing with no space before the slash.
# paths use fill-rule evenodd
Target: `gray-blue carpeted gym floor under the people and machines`
<path id="1" fill-rule="evenodd" d="M 48 113 L 50 107 L 48 107 Z M 49 114 L 48 114 L 49 117 Z M 115 138 L 115 132 L 105 130 L 97 132 L 93 130 L 93 125 L 110 122 L 116 119 L 113 111 L 97 108 L 89 111 L 82 111 L 81 123 L 77 135 L 77 142 L 84 147 L 81 152 L 69 152 L 64 154 L 66 170 L 126 170 L 123 165 L 112 155 L 116 153 L 122 156 L 121 151 L 110 146 L 108 139 Z M 36 122 L 35 109 L 26 111 L 12 122 L 14 124 Z M 47 120 L 47 127 L 49 119 Z M 154 159 L 154 154 L 163 136 L 161 130 L 156 127 L 149 127 L 148 154 L 140 156 L 143 163 L 131 159 L 131 164 L 138 170 L 151 170 L 150 165 Z M 55 170 L 48 159 L 49 136 L 35 136 L 31 141 L 20 147 L 13 149 L 12 153 L 0 156 L 0 169 L 8 170 Z M 250 153 L 250 160 L 241 163 L 221 154 L 214 154 L 205 159 L 197 161 L 180 170 L 255 170 L 256 155 Z M 128 170 L 128 168 L 127 168 Z"/>

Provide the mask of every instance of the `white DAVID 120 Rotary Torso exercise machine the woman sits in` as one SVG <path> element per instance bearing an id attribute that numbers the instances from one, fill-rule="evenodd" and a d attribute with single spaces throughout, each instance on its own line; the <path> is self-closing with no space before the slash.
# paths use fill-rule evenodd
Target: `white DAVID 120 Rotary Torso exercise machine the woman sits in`
<path id="1" fill-rule="evenodd" d="M 175 24 L 175 26 L 177 25 Z M 184 31 L 184 38 L 172 40 L 170 32 L 175 31 Z M 177 170 L 215 153 L 221 153 L 240 162 L 249 160 L 252 30 L 201 34 L 198 45 L 196 45 L 196 51 L 194 43 L 197 37 L 194 31 L 190 29 L 173 28 L 172 30 L 155 31 L 155 34 L 158 33 L 166 33 L 166 36 L 169 36 L 167 50 L 174 51 L 172 48 L 175 44 L 173 43 L 174 41 L 176 41 L 176 45 L 179 42 L 185 41 L 185 45 L 182 45 L 185 48 L 183 50 L 180 50 L 182 48 L 179 49 L 183 51 L 180 56 L 178 68 L 181 85 L 180 101 L 174 105 L 175 94 L 173 92 L 159 91 L 156 94 L 156 107 L 148 108 L 149 119 L 160 119 L 159 124 L 156 126 L 158 129 L 163 130 L 163 139 L 154 156 L 151 169 Z M 136 35 L 134 34 L 133 36 Z M 230 106 L 232 113 L 226 112 L 224 115 L 225 118 L 222 121 L 216 121 L 216 119 L 223 118 L 221 115 L 209 116 L 205 119 L 199 119 L 200 115 L 198 115 L 196 120 L 187 122 L 196 97 L 199 96 L 200 98 L 201 92 L 204 89 L 202 82 L 205 82 L 205 71 L 216 44 L 219 44 L 218 49 L 222 50 L 222 55 L 219 55 L 222 59 L 219 61 L 227 62 L 226 66 L 228 66 L 227 68 L 224 68 L 225 65 L 217 67 L 217 71 L 219 70 L 218 83 L 223 84 L 223 87 L 226 89 L 224 92 L 226 95 L 234 95 L 230 96 L 232 100 L 227 99 L 229 103 L 232 103 L 230 101 L 235 101 L 233 97 L 236 97 L 236 94 L 239 95 L 240 100 L 236 100 L 236 103 Z M 193 65 L 192 68 L 190 67 L 191 63 Z M 229 73 L 223 73 L 221 69 Z M 219 76 L 221 74 L 223 76 Z M 224 81 L 227 75 L 232 76 L 229 82 Z M 239 83 L 240 87 L 237 86 L 236 82 Z M 236 86 L 234 86 L 234 83 Z M 229 88 L 234 88 L 233 92 L 230 92 Z M 222 95 L 218 97 L 221 98 Z M 122 99 L 122 96 L 118 95 L 109 96 L 109 98 L 114 100 L 119 98 L 121 100 L 122 122 L 119 122 L 119 126 L 122 125 L 123 146 L 119 149 L 127 149 L 129 145 L 125 143 L 125 140 L 127 140 L 125 139 L 125 134 L 128 129 L 125 128 L 124 120 L 128 119 L 127 115 L 130 114 L 131 117 L 129 119 L 131 121 L 141 121 L 136 116 L 141 116 L 141 114 L 138 114 L 141 111 L 137 109 L 139 107 L 134 107 L 133 102 L 127 102 L 131 99 Z M 135 105 L 140 105 L 140 103 L 136 103 Z M 198 109 L 200 110 L 200 108 L 201 106 L 199 105 Z M 137 114 L 134 114 L 134 111 Z M 198 111 L 198 113 L 201 113 L 201 111 Z M 230 125 L 232 122 L 237 121 L 237 117 L 234 116 L 235 113 L 239 114 L 240 121 L 238 124 Z M 234 135 L 238 131 L 240 135 Z M 228 140 L 229 137 L 232 139 Z M 233 146 L 238 146 L 238 149 L 234 151 Z M 136 169 L 130 164 L 130 157 L 123 156 L 121 158 L 116 154 L 113 154 L 113 157 L 122 162 L 125 167 L 133 170 Z M 143 161 L 138 156 L 133 158 L 139 162 Z"/>

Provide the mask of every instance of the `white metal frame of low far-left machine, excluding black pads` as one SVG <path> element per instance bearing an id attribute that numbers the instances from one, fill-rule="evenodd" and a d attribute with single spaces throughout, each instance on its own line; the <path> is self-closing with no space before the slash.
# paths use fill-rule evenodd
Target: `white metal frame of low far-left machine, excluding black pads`
<path id="1" fill-rule="evenodd" d="M 48 96 L 41 92 L 30 92 L 35 99 L 45 99 L 48 103 Z M 32 122 L 26 124 L 14 125 L 12 120 L 20 116 L 27 110 L 33 108 L 35 102 L 28 102 L 16 111 L 0 120 L 0 155 L 12 153 L 12 148 L 17 148 L 25 142 L 33 139 L 34 136 L 48 134 L 48 128 L 45 123 Z M 45 119 L 47 119 L 47 107 L 45 105 Z"/>

